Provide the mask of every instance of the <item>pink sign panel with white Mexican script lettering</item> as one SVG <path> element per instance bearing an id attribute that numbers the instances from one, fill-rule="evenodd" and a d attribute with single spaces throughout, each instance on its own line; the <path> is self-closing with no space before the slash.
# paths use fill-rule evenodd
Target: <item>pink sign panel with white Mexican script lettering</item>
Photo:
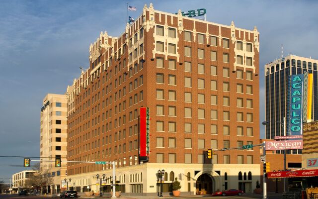
<path id="1" fill-rule="evenodd" d="M 303 149 L 303 140 L 266 141 L 265 150 Z"/>

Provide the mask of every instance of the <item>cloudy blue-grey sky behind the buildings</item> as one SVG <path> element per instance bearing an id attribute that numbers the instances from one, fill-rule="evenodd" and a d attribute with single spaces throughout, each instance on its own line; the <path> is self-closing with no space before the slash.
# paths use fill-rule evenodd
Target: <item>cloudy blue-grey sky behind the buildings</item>
<path id="1" fill-rule="evenodd" d="M 40 108 L 47 93 L 64 94 L 88 68 L 89 45 L 101 31 L 119 36 L 126 24 L 122 0 L 0 0 L 0 156 L 35 156 L 40 150 Z M 132 0 L 175 13 L 206 8 L 207 21 L 260 33 L 260 121 L 264 121 L 264 65 L 294 54 L 318 59 L 315 0 Z M 260 138 L 264 127 L 260 124 Z M 0 157 L 0 165 L 23 158 Z M 24 170 L 0 166 L 0 181 Z"/>

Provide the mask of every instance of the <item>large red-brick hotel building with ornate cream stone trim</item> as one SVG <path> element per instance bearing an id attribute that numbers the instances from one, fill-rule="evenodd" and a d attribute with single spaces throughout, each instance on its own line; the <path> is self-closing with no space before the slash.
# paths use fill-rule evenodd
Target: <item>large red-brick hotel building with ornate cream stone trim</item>
<path id="1" fill-rule="evenodd" d="M 259 144 L 259 33 L 155 10 L 119 37 L 89 47 L 89 69 L 68 96 L 68 160 L 115 161 L 122 194 L 157 195 L 178 177 L 181 192 L 243 189 L 259 180 L 259 150 L 209 148 Z M 139 158 L 139 108 L 150 109 L 149 161 Z M 109 165 L 69 163 L 74 190 L 99 190 Z M 89 186 L 89 187 L 87 187 Z"/>

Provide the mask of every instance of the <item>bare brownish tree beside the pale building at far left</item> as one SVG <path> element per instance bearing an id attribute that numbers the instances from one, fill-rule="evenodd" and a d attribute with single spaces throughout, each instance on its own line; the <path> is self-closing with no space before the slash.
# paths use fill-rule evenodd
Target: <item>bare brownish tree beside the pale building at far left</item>
<path id="1" fill-rule="evenodd" d="M 26 186 L 31 186 L 33 189 L 40 188 L 41 193 L 46 191 L 46 187 L 52 183 L 52 179 L 49 177 L 50 169 L 44 169 L 37 163 L 32 168 L 33 175 L 25 182 Z"/>

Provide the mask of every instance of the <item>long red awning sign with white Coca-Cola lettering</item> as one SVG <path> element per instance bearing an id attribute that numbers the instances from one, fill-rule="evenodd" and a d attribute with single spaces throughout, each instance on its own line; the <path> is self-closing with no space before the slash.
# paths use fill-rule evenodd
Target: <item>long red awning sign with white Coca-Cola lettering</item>
<path id="1" fill-rule="evenodd" d="M 297 171 L 276 171 L 268 172 L 267 178 L 298 178 L 318 176 L 318 169 L 297 170 Z"/>

